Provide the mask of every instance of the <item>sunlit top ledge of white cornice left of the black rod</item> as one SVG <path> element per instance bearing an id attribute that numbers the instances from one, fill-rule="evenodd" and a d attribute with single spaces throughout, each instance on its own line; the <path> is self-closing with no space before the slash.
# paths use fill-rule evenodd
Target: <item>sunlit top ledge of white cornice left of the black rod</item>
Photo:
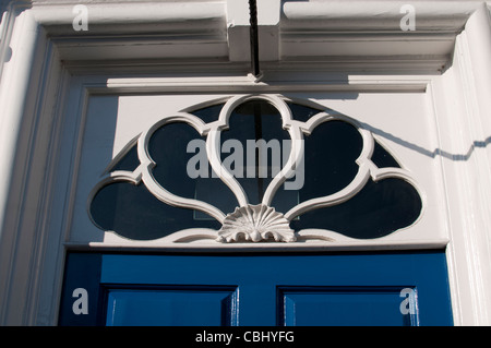
<path id="1" fill-rule="evenodd" d="M 92 3 L 79 1 L 87 8 L 88 31 L 76 33 L 72 29 L 76 12 L 74 4 L 45 2 L 33 7 L 36 21 L 49 34 L 137 34 L 193 32 L 200 29 L 224 31 L 226 9 L 223 2 L 128 2 Z"/>

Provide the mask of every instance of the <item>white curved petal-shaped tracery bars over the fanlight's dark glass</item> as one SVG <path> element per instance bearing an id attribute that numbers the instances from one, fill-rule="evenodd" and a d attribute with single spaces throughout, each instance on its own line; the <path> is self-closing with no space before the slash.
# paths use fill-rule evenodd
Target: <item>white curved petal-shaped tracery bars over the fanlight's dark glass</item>
<path id="1" fill-rule="evenodd" d="M 220 160 L 220 135 L 223 131 L 229 128 L 229 118 L 232 111 L 243 103 L 250 100 L 265 100 L 273 105 L 280 113 L 283 120 L 283 128 L 288 131 L 291 139 L 291 149 L 288 160 L 282 170 L 273 178 L 265 190 L 263 200 L 259 205 L 251 205 L 249 203 L 247 193 L 240 185 L 239 181 L 227 170 Z M 302 160 L 303 156 L 303 135 L 310 135 L 313 130 L 324 123 L 331 121 L 344 121 L 354 125 L 362 137 L 362 151 L 356 163 L 359 167 L 357 175 L 352 181 L 338 192 L 311 199 L 301 202 L 290 208 L 288 212 L 276 212 L 271 207 L 271 203 L 278 188 L 295 173 L 297 164 Z M 164 187 L 161 187 L 154 178 L 152 170 L 155 163 L 148 154 L 148 143 L 156 130 L 169 123 L 187 123 L 194 128 L 201 136 L 206 137 L 206 153 L 208 161 L 213 170 L 218 175 L 221 181 L 231 190 L 237 197 L 238 206 L 235 212 L 226 215 L 217 207 L 194 199 L 181 197 L 172 194 Z M 133 171 L 117 170 L 110 171 L 110 168 L 124 156 L 125 152 L 131 147 L 130 145 L 137 143 L 137 156 L 140 166 Z M 127 145 L 109 164 L 106 170 L 106 177 L 100 180 L 92 190 L 88 197 L 88 205 L 94 199 L 95 194 L 105 185 L 117 181 L 129 181 L 134 184 L 143 182 L 148 191 L 161 202 L 176 207 L 195 209 L 214 217 L 223 226 L 218 231 L 209 229 L 190 229 L 188 232 L 178 231 L 173 233 L 175 242 L 185 242 L 193 239 L 211 239 L 214 238 L 219 242 L 230 241 L 262 241 L 274 240 L 284 242 L 294 242 L 297 240 L 295 231 L 289 227 L 290 221 L 297 216 L 309 211 L 334 206 L 344 203 L 355 196 L 371 178 L 373 181 L 379 181 L 386 178 L 403 179 L 415 187 L 420 192 L 417 183 L 411 178 L 410 173 L 400 168 L 379 168 L 371 160 L 374 151 L 375 141 L 370 131 L 363 129 L 361 124 L 352 118 L 340 115 L 333 110 L 325 110 L 311 117 L 307 122 L 298 121 L 292 118 L 291 110 L 288 107 L 286 99 L 278 95 L 240 95 L 230 97 L 226 100 L 218 120 L 215 122 L 205 123 L 191 112 L 177 112 L 165 116 L 157 122 L 148 125 L 144 132 L 133 140 L 131 144 Z M 420 194 L 420 196 L 422 196 Z M 88 207 L 89 211 L 89 207 Z M 91 214 L 89 214 L 91 215 Z M 92 217 L 91 217 L 92 218 Z M 94 220 L 93 220 L 94 221 Z M 94 221 L 97 225 L 97 223 Z M 182 236 L 184 233 L 184 236 Z M 304 235 L 306 238 L 314 236 L 313 238 L 321 238 L 324 240 L 333 240 L 334 237 L 339 237 L 338 233 L 323 230 L 304 230 L 297 232 L 297 235 Z M 347 238 L 347 237 L 344 237 Z M 167 237 L 165 238 L 168 239 Z"/>

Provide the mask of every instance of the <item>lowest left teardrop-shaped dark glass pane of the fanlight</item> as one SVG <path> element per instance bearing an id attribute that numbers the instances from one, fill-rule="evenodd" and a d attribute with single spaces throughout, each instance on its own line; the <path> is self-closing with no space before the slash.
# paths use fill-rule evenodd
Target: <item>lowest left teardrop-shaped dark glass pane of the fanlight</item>
<path id="1" fill-rule="evenodd" d="M 104 187 L 91 204 L 91 214 L 103 229 L 135 240 L 157 239 L 185 228 L 220 227 L 215 219 L 196 220 L 193 211 L 167 205 L 145 185 L 129 182 Z"/>

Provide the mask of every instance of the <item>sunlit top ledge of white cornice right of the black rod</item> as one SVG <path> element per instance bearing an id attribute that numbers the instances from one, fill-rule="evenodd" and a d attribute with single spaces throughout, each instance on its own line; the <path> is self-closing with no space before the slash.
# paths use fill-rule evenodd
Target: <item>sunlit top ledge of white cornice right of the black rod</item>
<path id="1" fill-rule="evenodd" d="M 284 29 L 402 32 L 405 4 L 415 8 L 416 32 L 459 32 L 479 2 L 455 1 L 291 1 L 283 7 Z"/>

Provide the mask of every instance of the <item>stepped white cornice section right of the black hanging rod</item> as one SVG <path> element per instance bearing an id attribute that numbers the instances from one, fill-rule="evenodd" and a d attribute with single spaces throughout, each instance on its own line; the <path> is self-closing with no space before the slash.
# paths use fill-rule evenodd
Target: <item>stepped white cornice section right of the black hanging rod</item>
<path id="1" fill-rule="evenodd" d="M 479 1 L 291 1 L 283 5 L 284 60 L 427 61 L 442 70 Z M 400 22 L 414 8 L 415 31 Z M 391 61 L 388 61 L 391 63 Z M 342 64 L 342 63 L 340 63 Z M 392 64 L 392 63 L 391 63 Z M 343 64 L 342 64 L 343 65 Z"/>

